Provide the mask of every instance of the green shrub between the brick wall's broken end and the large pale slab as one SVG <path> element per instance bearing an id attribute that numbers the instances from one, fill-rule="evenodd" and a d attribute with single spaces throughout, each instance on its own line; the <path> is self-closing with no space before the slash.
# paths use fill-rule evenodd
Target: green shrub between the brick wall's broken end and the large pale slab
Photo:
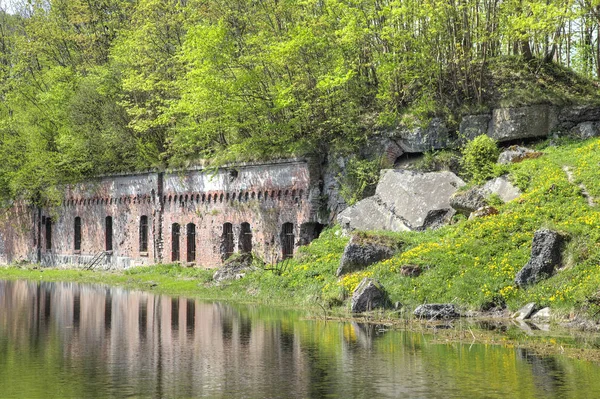
<path id="1" fill-rule="evenodd" d="M 345 168 L 337 176 L 340 195 L 348 205 L 373 195 L 379 181 L 381 169 L 379 160 L 369 161 L 351 157 L 346 162 Z"/>

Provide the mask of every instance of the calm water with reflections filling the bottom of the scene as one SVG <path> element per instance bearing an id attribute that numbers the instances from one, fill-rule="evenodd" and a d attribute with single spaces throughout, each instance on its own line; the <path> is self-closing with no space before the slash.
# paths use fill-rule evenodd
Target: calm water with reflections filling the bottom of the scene
<path id="1" fill-rule="evenodd" d="M 592 398 L 600 367 L 260 307 L 0 281 L 0 397 Z"/>

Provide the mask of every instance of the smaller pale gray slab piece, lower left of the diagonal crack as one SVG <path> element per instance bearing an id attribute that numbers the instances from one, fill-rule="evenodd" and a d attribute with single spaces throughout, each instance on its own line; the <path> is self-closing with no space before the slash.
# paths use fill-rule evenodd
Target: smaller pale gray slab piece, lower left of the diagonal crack
<path id="1" fill-rule="evenodd" d="M 377 196 L 365 198 L 344 209 L 337 221 L 345 232 L 352 230 L 408 231 L 402 219 L 394 215 Z"/>

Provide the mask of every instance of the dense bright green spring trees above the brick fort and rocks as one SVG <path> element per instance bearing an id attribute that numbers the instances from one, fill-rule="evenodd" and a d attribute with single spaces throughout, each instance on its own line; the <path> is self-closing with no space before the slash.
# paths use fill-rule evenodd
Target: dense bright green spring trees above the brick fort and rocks
<path id="1" fill-rule="evenodd" d="M 599 0 L 2 4 L 5 199 L 94 174 L 352 148 L 407 115 L 485 107 L 494 65 L 600 75 Z"/>

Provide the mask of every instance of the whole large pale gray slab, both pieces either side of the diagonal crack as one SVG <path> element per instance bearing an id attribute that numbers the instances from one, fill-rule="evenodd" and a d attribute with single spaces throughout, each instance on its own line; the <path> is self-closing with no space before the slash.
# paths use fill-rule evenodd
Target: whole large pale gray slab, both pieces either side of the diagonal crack
<path id="1" fill-rule="evenodd" d="M 465 183 L 452 172 L 383 170 L 376 193 L 338 216 L 346 230 L 423 230 L 450 220 L 449 199 Z"/>

